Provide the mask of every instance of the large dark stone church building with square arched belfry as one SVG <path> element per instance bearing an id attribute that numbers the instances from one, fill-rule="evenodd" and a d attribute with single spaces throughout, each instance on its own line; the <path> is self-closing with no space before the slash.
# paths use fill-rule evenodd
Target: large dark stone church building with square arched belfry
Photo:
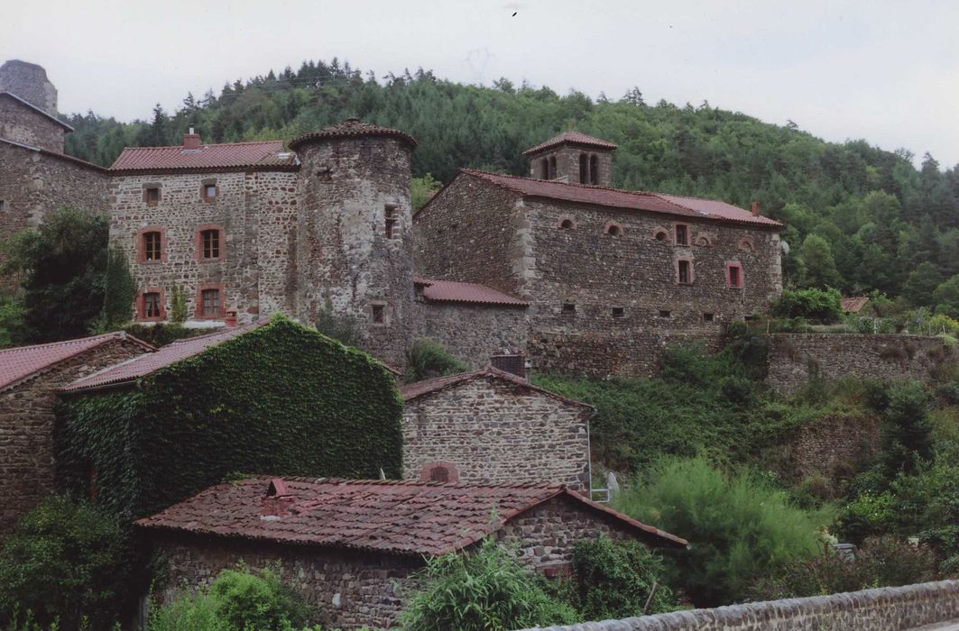
<path id="1" fill-rule="evenodd" d="M 462 169 L 414 216 L 417 272 L 517 296 L 534 364 L 596 376 L 650 374 L 667 342 L 714 340 L 781 293 L 781 224 L 602 186 L 614 148 L 568 133 L 526 152 L 535 177 Z"/>

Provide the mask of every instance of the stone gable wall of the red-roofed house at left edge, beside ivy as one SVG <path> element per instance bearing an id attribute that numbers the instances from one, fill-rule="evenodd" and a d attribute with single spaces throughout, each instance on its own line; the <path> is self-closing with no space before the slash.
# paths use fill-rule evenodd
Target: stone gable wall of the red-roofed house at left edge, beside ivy
<path id="1" fill-rule="evenodd" d="M 55 389 L 143 352 L 131 342 L 106 342 L 0 392 L 0 532 L 54 490 Z"/>

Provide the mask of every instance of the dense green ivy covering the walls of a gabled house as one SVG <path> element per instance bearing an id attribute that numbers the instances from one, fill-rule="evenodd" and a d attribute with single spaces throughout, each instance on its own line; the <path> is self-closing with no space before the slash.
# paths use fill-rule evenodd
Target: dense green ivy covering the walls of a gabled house
<path id="1" fill-rule="evenodd" d="M 64 397 L 58 477 L 130 517 L 241 473 L 399 478 L 402 408 L 371 356 L 274 316 L 139 385 Z"/>

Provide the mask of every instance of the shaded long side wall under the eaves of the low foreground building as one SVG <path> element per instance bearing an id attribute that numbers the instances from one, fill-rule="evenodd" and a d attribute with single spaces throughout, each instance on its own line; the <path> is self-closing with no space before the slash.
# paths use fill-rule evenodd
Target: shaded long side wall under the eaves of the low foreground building
<path id="1" fill-rule="evenodd" d="M 167 553 L 168 579 L 157 586 L 159 601 L 178 590 L 195 590 L 213 582 L 241 560 L 254 571 L 278 571 L 282 581 L 306 598 L 323 628 L 388 628 L 402 610 L 400 591 L 422 561 L 415 556 L 311 549 L 269 542 L 230 542 L 168 534 L 159 539 Z"/>

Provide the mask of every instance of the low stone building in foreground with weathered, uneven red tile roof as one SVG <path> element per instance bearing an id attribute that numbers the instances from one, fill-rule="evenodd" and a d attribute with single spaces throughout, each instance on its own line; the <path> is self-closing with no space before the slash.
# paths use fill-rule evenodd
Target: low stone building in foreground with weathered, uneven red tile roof
<path id="1" fill-rule="evenodd" d="M 426 557 L 474 549 L 486 536 L 517 546 L 547 575 L 573 544 L 600 534 L 682 549 L 560 485 L 453 485 L 260 477 L 216 485 L 137 522 L 169 559 L 161 600 L 209 584 L 241 560 L 278 570 L 324 627 L 388 628 Z"/>

